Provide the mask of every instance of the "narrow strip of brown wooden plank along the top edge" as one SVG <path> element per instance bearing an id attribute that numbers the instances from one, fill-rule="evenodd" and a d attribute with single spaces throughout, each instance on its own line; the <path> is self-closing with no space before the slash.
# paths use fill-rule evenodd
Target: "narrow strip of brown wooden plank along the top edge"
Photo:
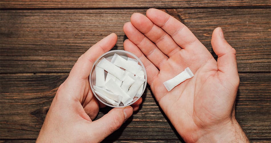
<path id="1" fill-rule="evenodd" d="M 218 1 L 218 0 L 165 0 L 165 1 L 154 1 L 154 0 L 70 0 L 70 1 L 59 1 L 59 0 L 1 0 L 1 9 L 92 9 L 92 8 L 187 8 L 187 7 L 269 7 L 270 1 L 258 0 L 258 1 Z"/>

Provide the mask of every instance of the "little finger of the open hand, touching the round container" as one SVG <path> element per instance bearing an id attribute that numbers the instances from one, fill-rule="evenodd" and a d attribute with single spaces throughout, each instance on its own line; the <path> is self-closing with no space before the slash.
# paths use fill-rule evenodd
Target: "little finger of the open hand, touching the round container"
<path id="1" fill-rule="evenodd" d="M 124 50 L 135 54 L 141 60 L 141 62 L 143 62 L 143 65 L 145 66 L 145 69 L 147 72 L 147 83 L 151 85 L 153 79 L 158 75 L 159 70 L 153 65 L 151 61 L 149 61 L 144 56 L 141 50 L 129 39 L 126 39 L 124 41 L 123 46 L 124 46 Z"/>

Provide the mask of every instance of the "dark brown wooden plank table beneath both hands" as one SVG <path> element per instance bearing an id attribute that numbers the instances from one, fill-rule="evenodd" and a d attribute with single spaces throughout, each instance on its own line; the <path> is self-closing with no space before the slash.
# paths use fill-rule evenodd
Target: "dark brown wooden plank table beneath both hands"
<path id="1" fill-rule="evenodd" d="M 270 6 L 264 0 L 1 0 L 0 142 L 35 142 L 58 86 L 78 57 L 111 32 L 118 35 L 113 49 L 123 49 L 123 24 L 150 7 L 186 24 L 215 58 L 211 34 L 222 27 L 237 52 L 236 118 L 251 142 L 270 142 Z M 112 141 L 183 142 L 149 86 L 140 110 L 106 139 Z"/>

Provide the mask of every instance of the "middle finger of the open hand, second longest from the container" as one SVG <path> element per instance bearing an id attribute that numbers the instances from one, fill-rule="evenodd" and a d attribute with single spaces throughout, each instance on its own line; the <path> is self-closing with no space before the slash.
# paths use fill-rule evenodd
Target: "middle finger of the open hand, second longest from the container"
<path id="1" fill-rule="evenodd" d="M 134 27 L 143 33 L 149 40 L 167 56 L 171 56 L 181 50 L 179 45 L 162 28 L 153 24 L 145 15 L 134 13 L 131 16 L 131 23 Z"/>

